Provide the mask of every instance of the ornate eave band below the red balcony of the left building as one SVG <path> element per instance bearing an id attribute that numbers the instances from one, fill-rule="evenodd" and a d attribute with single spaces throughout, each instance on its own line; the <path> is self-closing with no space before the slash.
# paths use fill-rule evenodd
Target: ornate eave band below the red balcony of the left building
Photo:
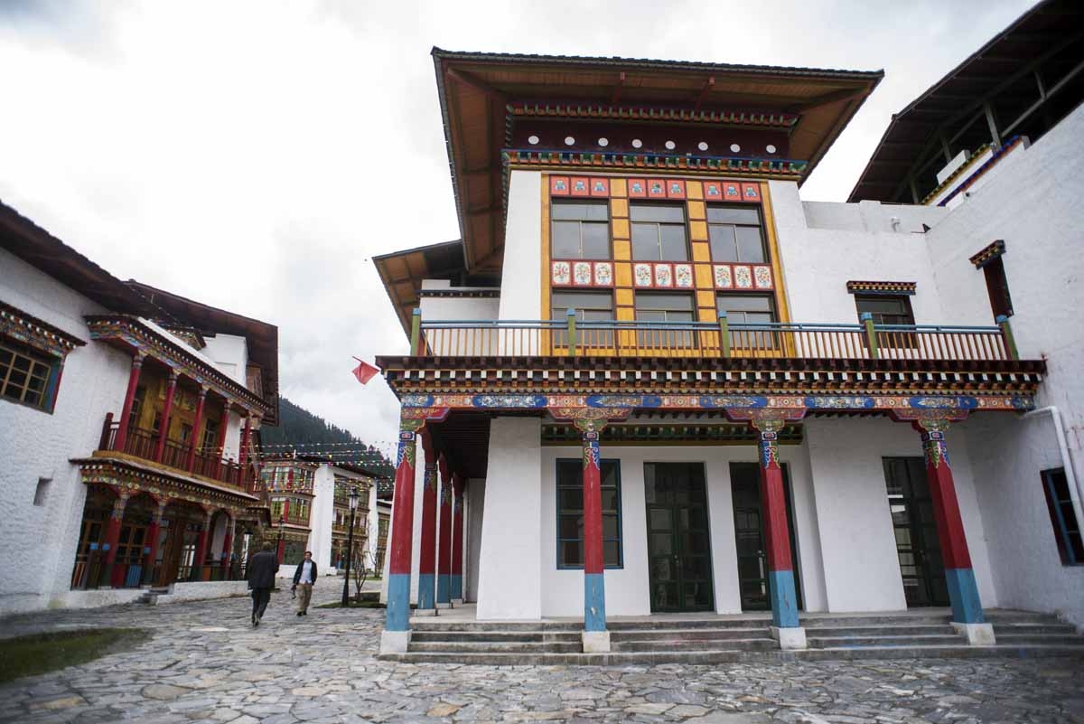
<path id="1" fill-rule="evenodd" d="M 225 508 L 234 518 L 259 500 L 240 490 L 216 488 L 189 478 L 147 470 L 127 461 L 92 457 L 72 462 L 79 466 L 86 484 L 109 486 L 133 495 L 147 493 L 159 501 L 184 501 L 206 510 Z"/>

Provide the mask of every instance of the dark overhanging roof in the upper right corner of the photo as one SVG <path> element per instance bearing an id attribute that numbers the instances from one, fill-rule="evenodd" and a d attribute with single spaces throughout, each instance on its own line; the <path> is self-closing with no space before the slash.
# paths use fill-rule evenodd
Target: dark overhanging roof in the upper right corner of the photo
<path id="1" fill-rule="evenodd" d="M 995 89 L 1084 35 L 1084 4 L 1046 0 L 949 72 L 892 120 L 848 202 L 893 202 L 906 173 L 942 127 L 973 114 Z M 1077 59 L 1079 61 L 1080 59 Z"/>

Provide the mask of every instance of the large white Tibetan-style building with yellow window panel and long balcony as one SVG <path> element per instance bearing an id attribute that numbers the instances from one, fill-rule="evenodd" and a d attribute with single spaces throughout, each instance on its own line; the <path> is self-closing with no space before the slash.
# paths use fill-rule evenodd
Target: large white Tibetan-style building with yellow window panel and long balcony
<path id="1" fill-rule="evenodd" d="M 382 651 L 467 650 L 410 611 L 460 598 L 607 656 L 663 612 L 1084 624 L 1079 18 L 895 116 L 846 204 L 799 190 L 880 72 L 434 50 L 462 241 L 375 259 L 411 339 Z"/>

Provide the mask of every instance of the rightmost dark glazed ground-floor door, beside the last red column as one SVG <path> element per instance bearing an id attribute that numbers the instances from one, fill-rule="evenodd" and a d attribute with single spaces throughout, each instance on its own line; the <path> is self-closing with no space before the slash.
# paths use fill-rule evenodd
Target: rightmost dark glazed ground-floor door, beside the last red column
<path id="1" fill-rule="evenodd" d="M 907 607 L 947 606 L 949 589 L 938 527 L 933 520 L 933 503 L 926 481 L 926 461 L 921 457 L 886 457 L 883 462 L 895 552 L 900 558 Z"/>

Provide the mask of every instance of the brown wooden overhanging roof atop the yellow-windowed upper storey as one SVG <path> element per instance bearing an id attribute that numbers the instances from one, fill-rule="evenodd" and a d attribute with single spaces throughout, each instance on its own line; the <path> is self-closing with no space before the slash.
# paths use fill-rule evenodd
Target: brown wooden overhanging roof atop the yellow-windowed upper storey
<path id="1" fill-rule="evenodd" d="M 808 173 L 883 72 L 825 70 L 434 48 L 437 88 L 468 272 L 499 272 L 504 246 L 506 107 L 517 100 L 799 114 L 790 156 Z"/>

